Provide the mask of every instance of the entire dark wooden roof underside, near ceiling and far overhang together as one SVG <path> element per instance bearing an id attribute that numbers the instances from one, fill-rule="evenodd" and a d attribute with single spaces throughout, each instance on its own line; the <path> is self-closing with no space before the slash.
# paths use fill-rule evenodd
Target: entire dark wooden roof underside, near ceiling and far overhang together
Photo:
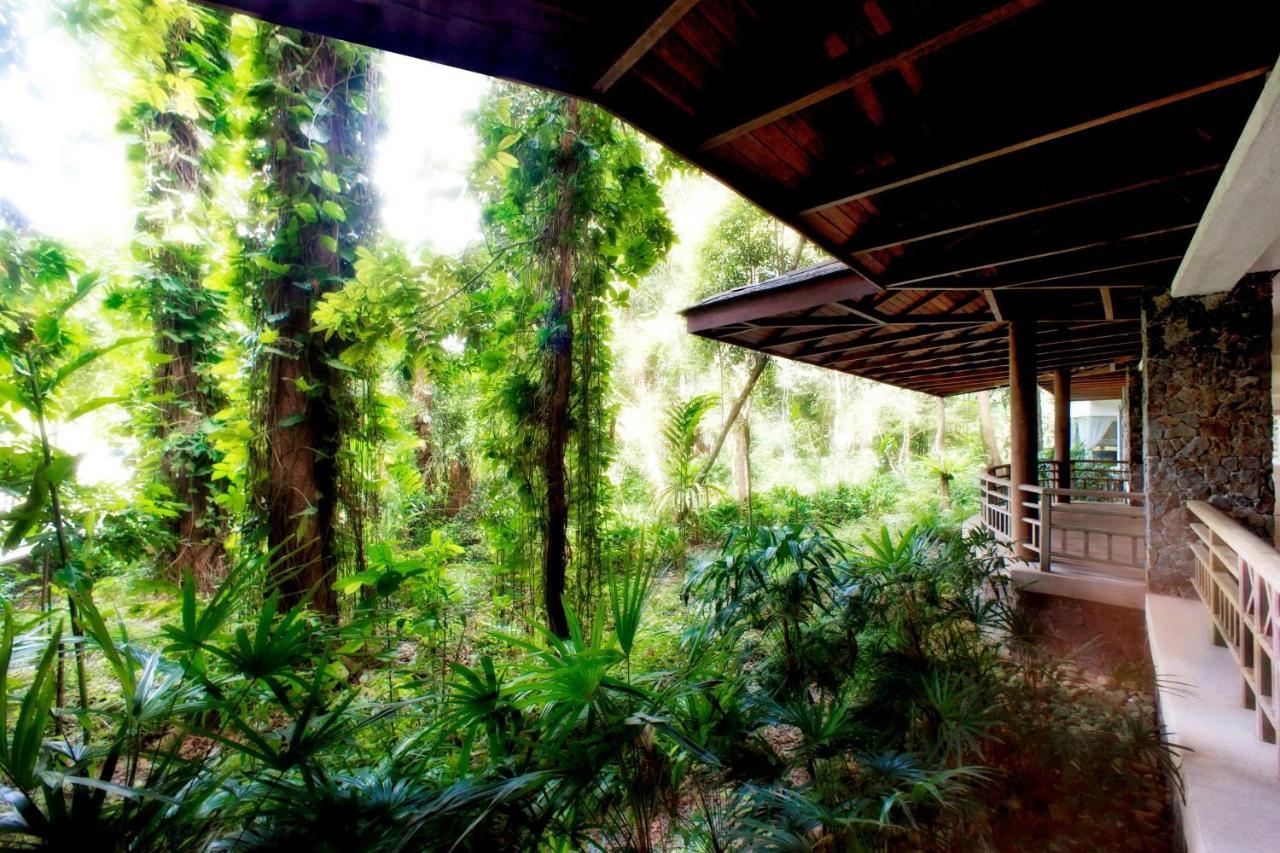
<path id="1" fill-rule="evenodd" d="M 1000 384 L 1002 311 L 1043 315 L 1046 364 L 1135 352 L 1107 347 L 1169 286 L 1280 53 L 1260 0 L 219 4 L 604 105 L 847 268 L 692 330 L 934 393 Z M 710 305 L 735 324 L 694 329 Z"/>

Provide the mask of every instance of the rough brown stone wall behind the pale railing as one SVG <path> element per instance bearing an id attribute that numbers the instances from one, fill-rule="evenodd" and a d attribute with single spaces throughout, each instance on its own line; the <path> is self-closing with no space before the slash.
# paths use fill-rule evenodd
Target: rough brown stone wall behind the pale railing
<path id="1" fill-rule="evenodd" d="M 1189 594 L 1185 501 L 1210 501 L 1271 540 L 1271 277 L 1229 293 L 1143 301 L 1147 569 Z"/>

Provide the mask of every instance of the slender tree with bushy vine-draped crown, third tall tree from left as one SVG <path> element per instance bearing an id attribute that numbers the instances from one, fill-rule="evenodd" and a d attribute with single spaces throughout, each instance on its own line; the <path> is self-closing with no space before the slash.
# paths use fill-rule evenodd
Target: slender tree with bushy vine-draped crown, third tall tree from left
<path id="1" fill-rule="evenodd" d="M 493 455 L 506 459 L 525 511 L 536 517 L 530 529 L 547 622 L 564 635 L 570 542 L 579 593 L 589 597 L 608 511 L 604 309 L 623 292 L 620 284 L 662 257 L 673 234 L 639 138 L 605 113 L 500 87 L 477 127 L 485 151 L 476 183 L 489 233 L 503 252 L 502 274 L 529 297 L 522 319 L 536 327 L 534 336 L 521 328 L 492 342 L 488 364 L 503 377 L 499 398 L 511 415 Z"/>

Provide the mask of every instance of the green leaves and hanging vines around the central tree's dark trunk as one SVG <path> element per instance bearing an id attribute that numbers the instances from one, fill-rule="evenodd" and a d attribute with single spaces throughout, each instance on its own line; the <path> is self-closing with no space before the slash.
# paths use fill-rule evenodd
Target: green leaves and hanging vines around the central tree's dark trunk
<path id="1" fill-rule="evenodd" d="M 504 521 L 515 535 L 511 549 L 499 542 L 498 558 L 513 573 L 541 561 L 549 535 L 547 466 L 558 453 L 549 442 L 553 424 L 567 420 L 573 592 L 589 606 L 602 580 L 600 542 L 611 514 L 608 309 L 626 301 L 673 233 L 639 137 L 603 110 L 498 86 L 476 129 L 483 151 L 474 190 L 500 252 L 489 287 L 471 297 L 472 313 L 486 318 L 476 345 L 486 409 L 495 415 L 485 424 L 484 453 L 507 479 L 507 507 L 521 516 Z M 571 263 L 567 311 L 553 283 L 562 247 Z M 571 388 L 567 411 L 558 411 L 554 356 L 566 348 Z"/>

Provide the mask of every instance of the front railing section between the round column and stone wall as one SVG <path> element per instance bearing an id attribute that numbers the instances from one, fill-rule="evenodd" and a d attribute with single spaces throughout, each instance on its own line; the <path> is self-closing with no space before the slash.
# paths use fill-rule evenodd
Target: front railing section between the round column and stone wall
<path id="1" fill-rule="evenodd" d="M 1021 487 L 1030 540 L 1041 571 L 1055 560 L 1146 578 L 1147 534 L 1142 492 Z"/>

